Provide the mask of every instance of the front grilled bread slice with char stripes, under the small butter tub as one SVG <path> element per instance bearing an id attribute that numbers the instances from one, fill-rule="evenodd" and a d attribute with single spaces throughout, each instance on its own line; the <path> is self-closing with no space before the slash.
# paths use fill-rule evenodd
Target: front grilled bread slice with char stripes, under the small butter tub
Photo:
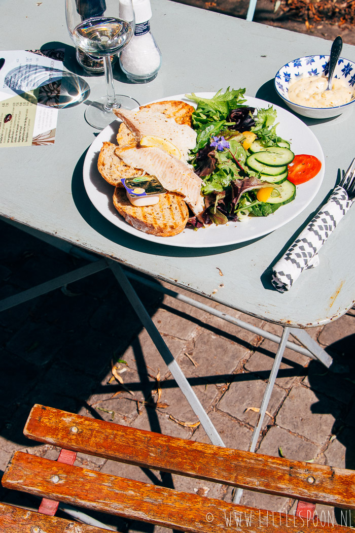
<path id="1" fill-rule="evenodd" d="M 187 205 L 176 192 L 160 195 L 158 204 L 136 207 L 127 198 L 126 190 L 116 187 L 113 205 L 128 224 L 159 237 L 178 235 L 185 229 L 188 219 Z"/>

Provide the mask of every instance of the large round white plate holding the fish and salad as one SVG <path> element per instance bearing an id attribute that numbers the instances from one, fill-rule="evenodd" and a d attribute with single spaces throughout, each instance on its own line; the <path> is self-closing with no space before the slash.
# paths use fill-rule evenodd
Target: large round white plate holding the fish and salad
<path id="1" fill-rule="evenodd" d="M 197 93 L 202 98 L 212 98 L 214 93 Z M 267 108 L 271 104 L 246 96 L 246 104 L 255 108 Z M 183 100 L 193 104 L 185 98 L 185 95 L 178 94 L 161 100 Z M 158 100 L 159 101 L 159 100 Z M 271 231 L 280 228 L 295 216 L 299 215 L 316 196 L 324 176 L 324 154 L 316 136 L 308 126 L 299 118 L 292 115 L 283 108 L 274 106 L 277 111 L 277 134 L 285 140 L 291 142 L 291 149 L 295 154 L 309 154 L 318 157 L 322 167 L 319 174 L 307 183 L 297 187 L 296 198 L 290 203 L 283 205 L 273 214 L 266 217 L 253 217 L 246 222 L 228 222 L 225 225 L 212 225 L 194 231 L 192 228 L 185 228 L 182 233 L 174 237 L 156 237 L 138 231 L 129 225 L 113 207 L 114 187 L 107 183 L 97 170 L 97 158 L 104 141 L 115 142 L 115 136 L 119 127 L 119 120 L 115 120 L 107 126 L 89 147 L 84 161 L 84 185 L 88 197 L 106 219 L 115 224 L 123 231 L 131 233 L 136 237 L 152 241 L 153 243 L 166 244 L 169 246 L 182 246 L 186 248 L 206 248 L 213 246 L 226 246 L 230 244 L 244 243 Z"/>

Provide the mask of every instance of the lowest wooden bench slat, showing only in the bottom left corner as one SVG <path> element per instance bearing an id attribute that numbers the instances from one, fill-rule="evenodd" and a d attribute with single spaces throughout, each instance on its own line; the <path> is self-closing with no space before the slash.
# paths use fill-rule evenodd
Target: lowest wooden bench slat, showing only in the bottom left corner
<path id="1" fill-rule="evenodd" d="M 3 533 L 107 533 L 108 531 L 3 503 L 0 503 L 0 517 Z"/>

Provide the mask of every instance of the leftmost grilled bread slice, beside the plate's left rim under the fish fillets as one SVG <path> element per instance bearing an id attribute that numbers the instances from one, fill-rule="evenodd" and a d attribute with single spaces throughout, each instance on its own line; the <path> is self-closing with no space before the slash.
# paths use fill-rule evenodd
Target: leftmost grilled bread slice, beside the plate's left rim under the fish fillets
<path id="1" fill-rule="evenodd" d="M 133 146 L 136 146 L 135 144 Z M 140 168 L 132 168 L 118 157 L 114 150 L 117 144 L 104 142 L 98 156 L 97 168 L 102 177 L 114 187 L 123 187 L 123 177 L 141 176 L 144 172 Z"/>

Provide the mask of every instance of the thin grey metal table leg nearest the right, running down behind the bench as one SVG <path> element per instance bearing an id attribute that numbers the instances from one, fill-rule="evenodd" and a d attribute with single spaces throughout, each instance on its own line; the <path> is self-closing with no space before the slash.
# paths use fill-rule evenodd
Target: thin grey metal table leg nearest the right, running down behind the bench
<path id="1" fill-rule="evenodd" d="M 274 389 L 276 376 L 278 373 L 278 369 L 280 368 L 281 360 L 282 360 L 282 357 L 283 357 L 283 354 L 286 348 L 287 339 L 288 339 L 288 336 L 290 335 L 290 330 L 291 328 L 289 327 L 285 327 L 283 330 L 283 333 L 281 336 L 281 342 L 278 345 L 278 349 L 276 352 L 273 368 L 271 368 L 269 380 L 266 385 L 266 389 L 265 389 L 265 392 L 264 392 L 264 395 L 261 401 L 261 406 L 260 406 L 260 410 L 258 413 L 257 422 L 255 422 L 253 435 L 252 435 L 250 445 L 248 448 L 249 451 L 255 451 L 255 448 L 257 447 L 257 442 L 258 442 L 261 426 L 262 426 L 263 419 L 266 414 L 266 410 L 268 408 L 268 404 L 271 398 L 271 393 L 273 392 L 273 389 Z M 237 489 L 235 492 L 234 498 L 233 498 L 233 502 L 240 503 L 242 494 L 243 494 L 243 489 Z"/>

